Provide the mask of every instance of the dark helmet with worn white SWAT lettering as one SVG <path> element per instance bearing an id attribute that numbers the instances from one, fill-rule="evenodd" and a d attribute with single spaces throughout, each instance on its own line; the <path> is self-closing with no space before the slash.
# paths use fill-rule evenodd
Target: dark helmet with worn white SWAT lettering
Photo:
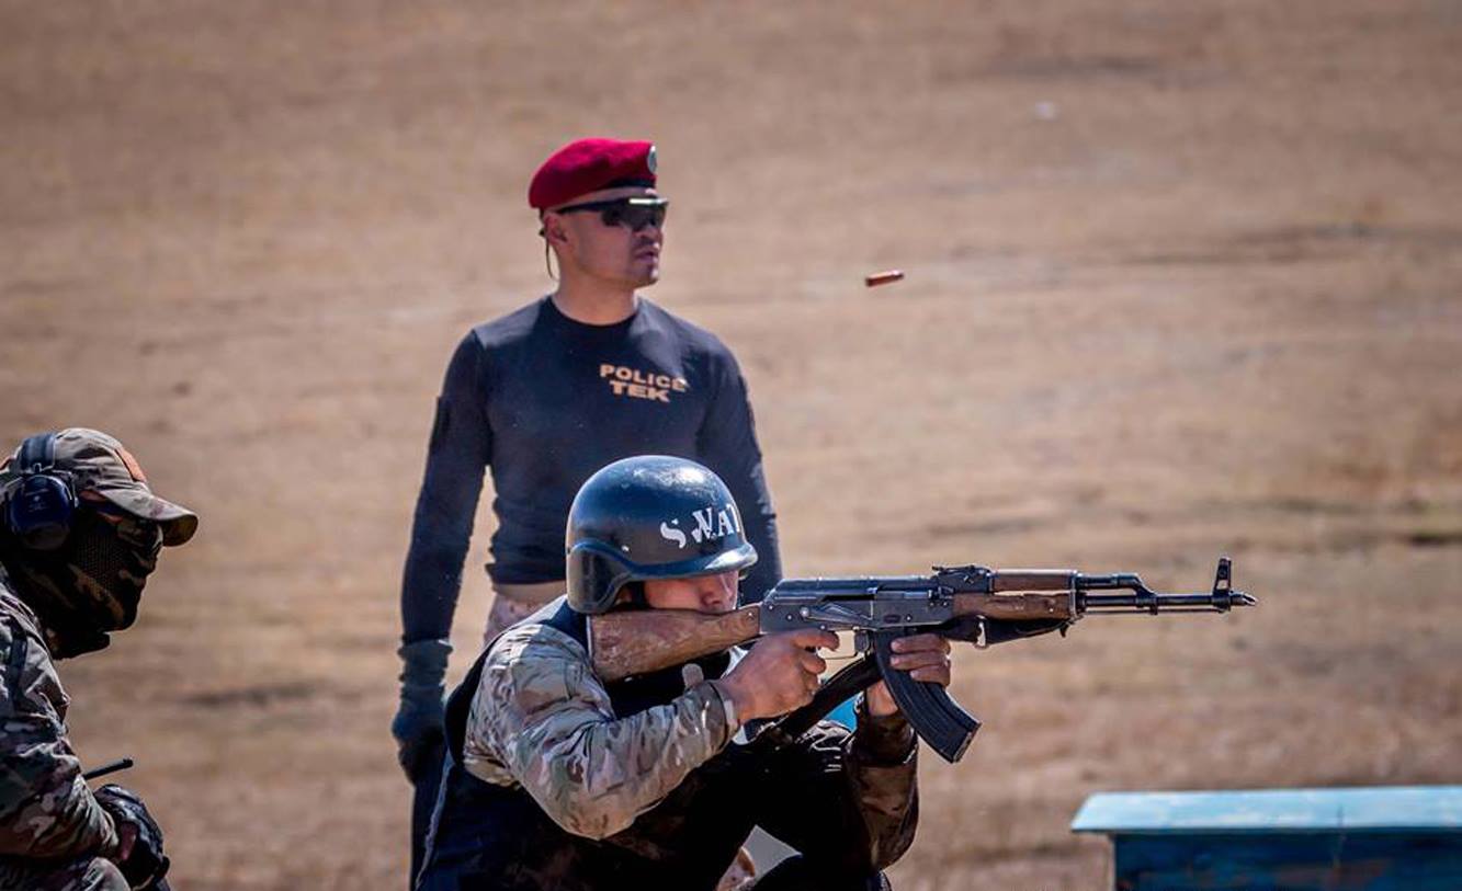
<path id="1" fill-rule="evenodd" d="M 642 454 L 601 467 L 579 488 L 564 535 L 569 606 L 608 612 L 620 589 L 756 562 L 721 478 L 696 462 Z"/>

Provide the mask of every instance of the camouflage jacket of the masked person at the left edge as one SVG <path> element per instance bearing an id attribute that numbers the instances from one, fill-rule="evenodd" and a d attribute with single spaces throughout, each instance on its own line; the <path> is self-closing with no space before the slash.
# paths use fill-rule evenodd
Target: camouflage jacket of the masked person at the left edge
<path id="1" fill-rule="evenodd" d="M 41 627 L 0 570 L 0 865 L 117 847 L 66 741 L 66 691 Z"/>

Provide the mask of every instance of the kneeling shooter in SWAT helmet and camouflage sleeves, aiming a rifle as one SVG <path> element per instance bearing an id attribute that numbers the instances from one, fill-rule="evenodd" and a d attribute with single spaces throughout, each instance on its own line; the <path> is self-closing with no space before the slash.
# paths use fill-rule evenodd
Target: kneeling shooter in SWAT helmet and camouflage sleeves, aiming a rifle
<path id="1" fill-rule="evenodd" d="M 683 535 L 673 535 L 681 532 Z M 450 765 L 418 888 L 711 890 L 753 825 L 800 852 L 757 888 L 876 888 L 911 844 L 917 739 L 883 684 L 849 733 L 819 723 L 778 748 L 741 724 L 811 701 L 835 649 L 816 628 L 770 634 L 605 681 L 588 618 L 725 615 L 756 561 L 725 485 L 683 459 L 616 462 L 579 489 L 567 587 L 499 635 L 447 705 Z M 949 646 L 899 641 L 896 668 L 949 682 Z"/>

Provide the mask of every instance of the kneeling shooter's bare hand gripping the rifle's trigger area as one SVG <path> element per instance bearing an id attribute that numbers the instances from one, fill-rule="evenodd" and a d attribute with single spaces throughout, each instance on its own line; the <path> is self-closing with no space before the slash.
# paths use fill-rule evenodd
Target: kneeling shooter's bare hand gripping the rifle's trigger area
<path id="1" fill-rule="evenodd" d="M 778 717 L 811 701 L 827 663 L 813 650 L 836 650 L 832 631 L 804 628 L 769 634 L 727 676 L 715 681 L 737 719 Z"/>

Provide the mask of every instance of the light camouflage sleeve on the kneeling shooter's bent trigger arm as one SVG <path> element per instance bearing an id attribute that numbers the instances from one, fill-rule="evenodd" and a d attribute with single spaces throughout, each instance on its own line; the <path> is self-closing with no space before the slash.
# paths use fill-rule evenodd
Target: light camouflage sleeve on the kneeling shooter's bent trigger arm
<path id="1" fill-rule="evenodd" d="M 490 752 L 566 831 L 604 838 L 670 795 L 734 733 L 721 694 L 706 682 L 617 719 L 577 641 L 519 625 L 487 656 L 466 748 Z M 481 776 L 471 757 L 466 768 Z"/>

